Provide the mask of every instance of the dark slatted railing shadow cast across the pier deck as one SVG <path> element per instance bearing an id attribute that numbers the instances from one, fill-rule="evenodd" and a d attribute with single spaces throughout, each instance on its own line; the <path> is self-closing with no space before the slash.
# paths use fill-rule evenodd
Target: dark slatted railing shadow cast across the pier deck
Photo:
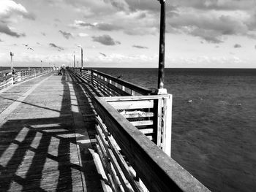
<path id="1" fill-rule="evenodd" d="M 0 125 L 0 191 L 83 191 L 80 171 L 86 181 L 85 190 L 94 191 L 98 185 L 102 191 L 99 176 L 91 178 L 91 172 L 96 172 L 95 165 L 90 163 L 90 172 L 86 172 L 77 158 L 76 139 L 83 136 L 75 137 L 69 84 L 79 96 L 79 87 L 64 74 L 59 88 L 63 89 L 61 110 L 41 107 L 26 99 L 21 103 L 59 112 L 58 117 L 12 118 Z M 80 155 L 83 161 L 92 160 L 90 153 Z"/>

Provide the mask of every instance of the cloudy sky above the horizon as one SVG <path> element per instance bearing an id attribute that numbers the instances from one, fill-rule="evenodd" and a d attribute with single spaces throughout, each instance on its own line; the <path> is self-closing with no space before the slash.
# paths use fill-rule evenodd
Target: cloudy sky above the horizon
<path id="1" fill-rule="evenodd" d="M 166 0 L 165 67 L 256 68 L 256 0 Z M 157 0 L 0 0 L 0 66 L 158 67 Z M 26 46 L 27 45 L 27 46 Z"/>

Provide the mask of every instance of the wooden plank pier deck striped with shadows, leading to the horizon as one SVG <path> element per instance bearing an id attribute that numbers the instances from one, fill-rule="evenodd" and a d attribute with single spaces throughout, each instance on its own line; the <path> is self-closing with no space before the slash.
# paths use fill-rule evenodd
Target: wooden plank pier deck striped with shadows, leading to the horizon
<path id="1" fill-rule="evenodd" d="M 68 73 L 0 91 L 0 191 L 103 191 L 86 94 Z"/>

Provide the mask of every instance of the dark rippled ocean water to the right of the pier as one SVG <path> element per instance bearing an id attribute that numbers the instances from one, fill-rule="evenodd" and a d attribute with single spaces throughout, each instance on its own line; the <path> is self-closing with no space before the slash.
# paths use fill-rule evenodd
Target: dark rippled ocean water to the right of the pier
<path id="1" fill-rule="evenodd" d="M 97 70 L 157 88 L 157 69 Z M 165 88 L 172 157 L 211 191 L 255 191 L 256 69 L 165 69 Z"/>

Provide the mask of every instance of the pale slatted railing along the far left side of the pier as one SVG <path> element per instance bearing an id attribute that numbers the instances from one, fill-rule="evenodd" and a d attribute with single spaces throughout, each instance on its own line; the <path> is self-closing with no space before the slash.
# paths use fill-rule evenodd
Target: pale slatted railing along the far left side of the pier
<path id="1" fill-rule="evenodd" d="M 12 72 L 1 73 L 0 74 L 0 90 L 3 88 L 7 88 L 10 85 L 15 83 L 28 80 L 32 77 L 37 77 L 40 74 L 45 74 L 51 72 L 51 68 L 43 68 L 43 69 L 20 69 L 14 74 Z"/>

